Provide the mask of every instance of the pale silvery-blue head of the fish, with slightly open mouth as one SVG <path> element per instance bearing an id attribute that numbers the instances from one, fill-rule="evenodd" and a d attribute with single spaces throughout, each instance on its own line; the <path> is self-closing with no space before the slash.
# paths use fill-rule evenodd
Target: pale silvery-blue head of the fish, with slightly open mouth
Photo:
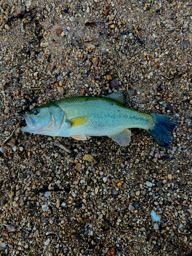
<path id="1" fill-rule="evenodd" d="M 65 112 L 57 105 L 39 106 L 24 114 L 27 126 L 20 130 L 33 134 L 57 136 L 65 116 Z"/>

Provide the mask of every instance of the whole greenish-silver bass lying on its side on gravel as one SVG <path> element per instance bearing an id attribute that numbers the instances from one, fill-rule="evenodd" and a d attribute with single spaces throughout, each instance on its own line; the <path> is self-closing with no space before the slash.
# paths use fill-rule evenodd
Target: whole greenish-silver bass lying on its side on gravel
<path id="1" fill-rule="evenodd" d="M 22 132 L 87 140 L 108 136 L 120 146 L 131 142 L 131 128 L 146 130 L 161 146 L 173 143 L 178 117 L 150 114 L 125 107 L 123 92 L 103 97 L 77 96 L 38 106 L 24 115 Z"/>

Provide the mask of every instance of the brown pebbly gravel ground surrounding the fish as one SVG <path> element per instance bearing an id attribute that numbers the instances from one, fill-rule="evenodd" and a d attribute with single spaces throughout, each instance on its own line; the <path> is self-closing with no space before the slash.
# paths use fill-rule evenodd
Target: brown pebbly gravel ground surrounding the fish
<path id="1" fill-rule="evenodd" d="M 191 255 L 192 3 L 0 3 L 0 255 Z M 115 90 L 181 118 L 168 150 L 19 132 L 35 106 Z"/>

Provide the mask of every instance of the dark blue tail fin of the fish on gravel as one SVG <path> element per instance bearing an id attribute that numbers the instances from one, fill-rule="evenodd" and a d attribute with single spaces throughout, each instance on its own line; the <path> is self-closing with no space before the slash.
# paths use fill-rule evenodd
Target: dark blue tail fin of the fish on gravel
<path id="1" fill-rule="evenodd" d="M 170 134 L 178 125 L 179 120 L 176 116 L 152 114 L 154 116 L 155 125 L 148 133 L 163 147 L 169 147 L 173 142 Z"/>

